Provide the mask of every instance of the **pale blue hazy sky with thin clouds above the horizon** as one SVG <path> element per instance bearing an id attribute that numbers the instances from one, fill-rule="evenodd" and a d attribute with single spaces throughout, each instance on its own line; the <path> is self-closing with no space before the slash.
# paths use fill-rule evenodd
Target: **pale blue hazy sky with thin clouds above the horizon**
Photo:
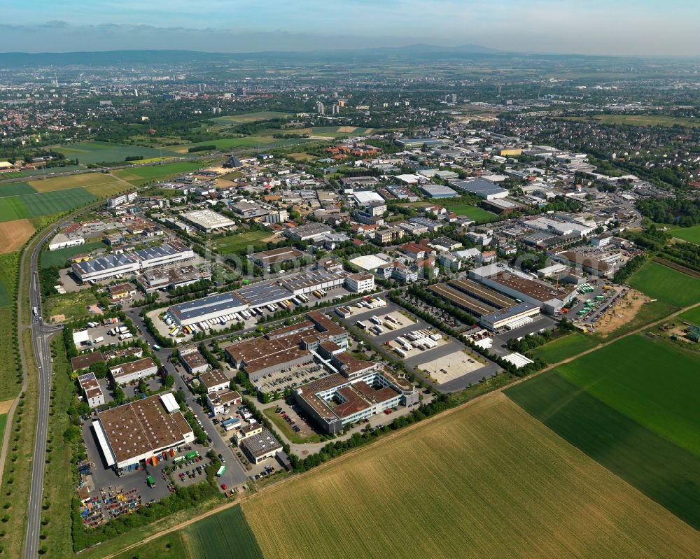
<path id="1" fill-rule="evenodd" d="M 0 51 L 216 52 L 473 43 L 700 55 L 700 0 L 9 0 Z"/>

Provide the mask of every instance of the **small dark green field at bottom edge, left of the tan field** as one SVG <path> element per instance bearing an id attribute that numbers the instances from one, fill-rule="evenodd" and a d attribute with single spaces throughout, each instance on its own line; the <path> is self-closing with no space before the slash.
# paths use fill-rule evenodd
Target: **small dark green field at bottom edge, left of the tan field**
<path id="1" fill-rule="evenodd" d="M 188 526 L 183 539 L 197 559 L 262 559 L 240 505 Z"/>

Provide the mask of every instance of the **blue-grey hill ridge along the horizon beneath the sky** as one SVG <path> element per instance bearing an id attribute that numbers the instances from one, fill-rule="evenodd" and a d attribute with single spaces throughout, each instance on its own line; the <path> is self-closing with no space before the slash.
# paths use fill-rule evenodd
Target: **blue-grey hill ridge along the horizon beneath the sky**
<path id="1" fill-rule="evenodd" d="M 222 62 L 235 60 L 327 60 L 371 59 L 376 57 L 464 57 L 494 55 L 500 50 L 480 45 L 444 47 L 439 45 L 408 45 L 312 51 L 269 52 L 200 52 L 196 50 L 104 50 L 94 52 L 0 52 L 0 67 L 34 66 L 113 66 L 116 64 L 181 64 L 186 62 Z"/>

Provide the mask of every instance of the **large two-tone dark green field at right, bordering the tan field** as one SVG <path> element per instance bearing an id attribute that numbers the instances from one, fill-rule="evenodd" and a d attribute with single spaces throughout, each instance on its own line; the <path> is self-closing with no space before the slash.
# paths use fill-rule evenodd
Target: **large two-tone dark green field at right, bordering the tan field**
<path id="1" fill-rule="evenodd" d="M 700 528 L 700 356 L 634 335 L 505 393 Z"/>

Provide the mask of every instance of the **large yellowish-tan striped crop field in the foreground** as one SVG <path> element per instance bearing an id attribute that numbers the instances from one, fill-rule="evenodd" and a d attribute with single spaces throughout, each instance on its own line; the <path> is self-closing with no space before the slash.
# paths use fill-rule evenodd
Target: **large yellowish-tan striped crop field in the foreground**
<path id="1" fill-rule="evenodd" d="M 502 393 L 244 504 L 266 559 L 678 558 L 700 534 Z"/>

